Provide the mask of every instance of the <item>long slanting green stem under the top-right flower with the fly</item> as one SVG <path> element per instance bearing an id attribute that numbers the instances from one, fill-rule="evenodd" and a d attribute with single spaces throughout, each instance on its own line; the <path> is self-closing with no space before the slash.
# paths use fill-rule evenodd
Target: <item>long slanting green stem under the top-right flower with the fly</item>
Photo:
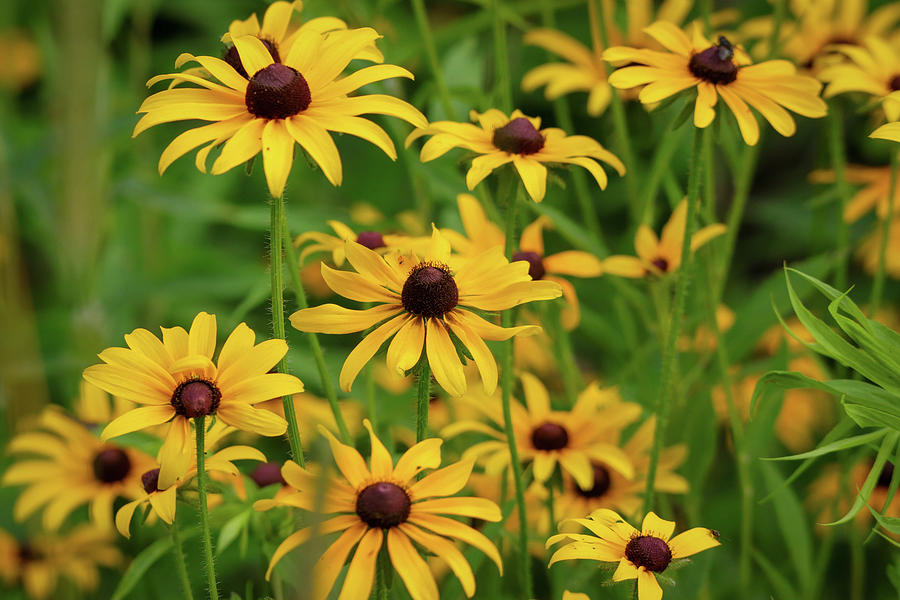
<path id="1" fill-rule="evenodd" d="M 672 389 L 676 371 L 676 345 L 681 333 L 681 319 L 684 315 L 684 305 L 687 297 L 687 287 L 691 275 L 691 238 L 694 235 L 695 221 L 697 220 L 697 204 L 699 200 L 700 150 L 703 147 L 705 129 L 694 129 L 694 139 L 691 142 L 690 175 L 688 177 L 687 217 L 685 219 L 684 239 L 681 243 L 681 266 L 678 272 L 678 281 L 675 284 L 675 301 L 672 305 L 669 327 L 666 332 L 666 345 L 663 348 L 662 370 L 660 374 L 659 394 L 656 397 L 656 431 L 653 435 L 653 446 L 650 449 L 650 463 L 647 466 L 647 488 L 644 496 L 644 514 L 653 510 L 653 490 L 656 484 L 656 469 L 659 464 L 659 453 L 662 448 L 662 440 L 665 436 L 669 421 L 669 409 L 672 404 Z"/>

